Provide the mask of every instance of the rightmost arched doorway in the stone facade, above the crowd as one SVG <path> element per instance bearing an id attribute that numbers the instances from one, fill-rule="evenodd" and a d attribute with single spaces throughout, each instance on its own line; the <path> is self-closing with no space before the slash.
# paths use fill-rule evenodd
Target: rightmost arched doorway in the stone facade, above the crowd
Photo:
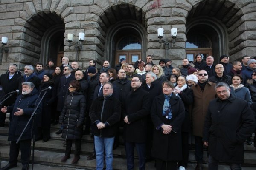
<path id="1" fill-rule="evenodd" d="M 195 55 L 203 54 L 204 60 L 212 55 L 215 63 L 219 57 L 228 54 L 227 28 L 213 17 L 192 18 L 186 24 L 186 57 L 195 62 Z"/>

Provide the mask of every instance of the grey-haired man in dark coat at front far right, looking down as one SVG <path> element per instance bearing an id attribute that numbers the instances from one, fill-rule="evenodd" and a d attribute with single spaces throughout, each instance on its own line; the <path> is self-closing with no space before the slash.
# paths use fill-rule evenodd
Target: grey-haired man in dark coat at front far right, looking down
<path id="1" fill-rule="evenodd" d="M 254 115 L 245 100 L 230 94 L 226 83 L 218 83 L 215 90 L 218 98 L 209 104 L 203 133 L 204 145 L 208 146 L 208 168 L 218 170 L 218 162 L 224 161 L 230 169 L 241 170 L 244 141 L 254 131 Z"/>

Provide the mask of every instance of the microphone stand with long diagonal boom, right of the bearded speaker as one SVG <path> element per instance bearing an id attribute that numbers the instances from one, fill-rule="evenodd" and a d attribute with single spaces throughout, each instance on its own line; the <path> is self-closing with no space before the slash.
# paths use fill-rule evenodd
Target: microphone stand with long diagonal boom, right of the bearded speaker
<path id="1" fill-rule="evenodd" d="M 21 138 L 21 136 L 23 135 L 24 131 L 26 130 L 26 127 L 29 125 L 29 123 L 30 123 L 30 121 L 31 121 L 32 118 L 33 118 L 33 128 L 35 127 L 35 126 L 34 126 L 34 125 L 35 125 L 35 119 L 36 119 L 36 116 L 37 116 L 37 114 L 36 114 L 35 112 L 36 112 L 36 110 L 38 109 L 40 103 L 42 102 L 42 100 L 43 100 L 43 98 L 44 98 L 46 92 L 47 92 L 47 91 L 44 91 L 44 95 L 41 97 L 40 101 L 38 102 L 38 105 L 36 106 L 35 110 L 34 110 L 33 113 L 31 114 L 31 116 L 30 116 L 30 118 L 29 118 L 29 121 L 27 122 L 26 126 L 24 127 L 23 131 L 21 132 L 20 137 L 18 138 L 16 144 L 18 144 L 18 143 L 20 142 L 20 138 Z M 39 97 L 39 96 L 38 96 L 38 97 Z M 35 103 L 35 104 L 36 104 L 36 103 Z M 35 115 L 35 117 L 34 117 L 34 115 Z M 32 129 L 32 131 L 34 131 L 34 130 Z M 32 151 L 32 170 L 34 170 L 35 133 L 33 134 L 33 147 L 32 147 L 32 150 L 33 150 L 33 151 Z"/>

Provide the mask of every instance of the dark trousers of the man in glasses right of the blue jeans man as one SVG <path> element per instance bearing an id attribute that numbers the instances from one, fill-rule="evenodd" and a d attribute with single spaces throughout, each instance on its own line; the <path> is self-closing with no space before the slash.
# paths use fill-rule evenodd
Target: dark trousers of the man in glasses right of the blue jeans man
<path id="1" fill-rule="evenodd" d="M 125 152 L 127 159 L 127 170 L 134 169 L 134 147 L 136 147 L 139 156 L 139 170 L 145 170 L 146 163 L 146 144 L 125 142 Z"/>

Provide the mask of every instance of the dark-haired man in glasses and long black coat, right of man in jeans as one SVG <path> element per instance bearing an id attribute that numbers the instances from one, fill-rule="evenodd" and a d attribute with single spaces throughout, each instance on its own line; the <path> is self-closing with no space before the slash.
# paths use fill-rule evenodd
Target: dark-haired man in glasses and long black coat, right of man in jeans
<path id="1" fill-rule="evenodd" d="M 127 157 L 127 169 L 134 169 L 134 147 L 139 156 L 139 170 L 145 170 L 147 116 L 149 112 L 148 93 L 141 87 L 141 77 L 131 79 L 132 91 L 125 100 L 124 139 Z"/>

